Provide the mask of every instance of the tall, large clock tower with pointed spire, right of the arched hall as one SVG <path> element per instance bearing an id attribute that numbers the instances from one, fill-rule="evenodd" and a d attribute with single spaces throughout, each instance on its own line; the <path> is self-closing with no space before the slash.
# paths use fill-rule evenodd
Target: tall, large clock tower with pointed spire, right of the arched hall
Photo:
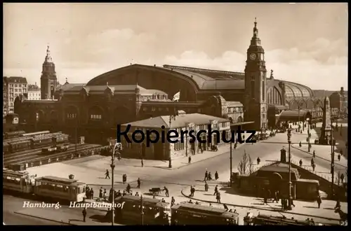
<path id="1" fill-rule="evenodd" d="M 245 66 L 244 118 L 246 121 L 254 121 L 253 125 L 249 126 L 251 129 L 261 130 L 267 128 L 267 70 L 265 51 L 258 38 L 256 18 L 254 25 Z"/>

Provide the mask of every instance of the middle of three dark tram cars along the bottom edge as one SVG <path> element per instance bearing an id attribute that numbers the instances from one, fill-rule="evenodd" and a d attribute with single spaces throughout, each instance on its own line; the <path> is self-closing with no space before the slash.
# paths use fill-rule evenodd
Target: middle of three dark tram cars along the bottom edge
<path id="1" fill-rule="evenodd" d="M 171 225 L 239 225 L 239 214 L 201 204 L 180 203 L 171 208 Z"/>

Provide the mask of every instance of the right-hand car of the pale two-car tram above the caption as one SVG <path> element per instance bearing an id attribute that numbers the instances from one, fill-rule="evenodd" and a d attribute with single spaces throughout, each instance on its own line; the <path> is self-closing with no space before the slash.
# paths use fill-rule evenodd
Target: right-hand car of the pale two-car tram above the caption
<path id="1" fill-rule="evenodd" d="M 75 179 L 65 179 L 56 176 L 43 176 L 35 181 L 34 194 L 41 197 L 51 197 L 69 202 L 83 202 L 86 183 Z"/>

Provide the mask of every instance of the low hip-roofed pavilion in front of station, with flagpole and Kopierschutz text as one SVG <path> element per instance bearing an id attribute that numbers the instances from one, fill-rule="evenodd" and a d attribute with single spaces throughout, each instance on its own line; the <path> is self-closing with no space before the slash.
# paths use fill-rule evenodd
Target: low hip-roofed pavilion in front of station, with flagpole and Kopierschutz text
<path id="1" fill-rule="evenodd" d="M 146 120 L 139 120 L 128 123 L 121 126 L 121 131 L 126 131 L 126 126 L 130 125 L 131 128 L 128 130 L 128 138 L 131 143 L 121 136 L 121 144 L 124 147 L 123 156 L 124 158 L 143 158 L 149 160 L 169 160 L 177 156 L 192 155 L 192 153 L 200 153 L 203 151 L 211 151 L 211 146 L 221 146 L 225 144 L 223 142 L 223 136 L 227 141 L 230 140 L 232 134 L 230 133 L 230 120 L 225 118 L 218 118 L 215 116 L 208 116 L 200 113 L 186 114 L 183 111 L 177 113 L 178 116 L 157 116 Z M 208 125 L 211 125 L 212 132 L 208 136 Z M 164 126 L 164 130 L 161 127 Z M 140 140 L 140 132 L 135 133 L 135 130 L 143 131 L 143 134 L 147 134 L 147 131 L 155 130 L 160 135 L 159 142 L 147 146 L 146 138 L 143 142 L 137 143 L 133 141 L 135 139 Z M 161 132 L 167 134 L 169 130 L 176 131 L 178 137 L 174 139 L 177 141 L 175 144 L 169 143 L 166 139 L 161 142 Z M 199 142 L 195 139 L 194 142 L 190 142 L 192 139 L 188 134 L 184 134 L 183 138 L 181 132 L 189 132 L 194 130 L 194 136 L 196 137 L 200 130 L 206 131 L 199 134 L 201 140 L 204 143 Z M 174 133 L 172 133 L 174 134 Z M 157 135 L 152 133 L 150 140 L 155 140 Z"/>

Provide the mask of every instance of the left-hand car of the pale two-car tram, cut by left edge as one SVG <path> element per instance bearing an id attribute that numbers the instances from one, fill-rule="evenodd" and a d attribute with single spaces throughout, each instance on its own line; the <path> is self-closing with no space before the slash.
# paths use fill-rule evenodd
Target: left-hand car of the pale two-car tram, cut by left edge
<path id="1" fill-rule="evenodd" d="M 34 185 L 35 176 L 30 176 L 28 172 L 3 169 L 3 189 L 19 193 L 32 193 Z"/>

